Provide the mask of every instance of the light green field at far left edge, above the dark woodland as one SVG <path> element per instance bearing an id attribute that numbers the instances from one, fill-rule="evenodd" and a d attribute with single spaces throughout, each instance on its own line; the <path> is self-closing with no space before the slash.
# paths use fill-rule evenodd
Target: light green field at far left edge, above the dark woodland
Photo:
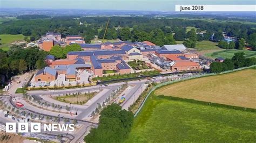
<path id="1" fill-rule="evenodd" d="M 24 39 L 24 35 L 17 34 L 17 35 L 10 35 L 10 34 L 2 34 L 0 35 L 1 43 L 0 48 L 4 51 L 8 51 L 10 44 L 15 41 L 20 41 Z"/>

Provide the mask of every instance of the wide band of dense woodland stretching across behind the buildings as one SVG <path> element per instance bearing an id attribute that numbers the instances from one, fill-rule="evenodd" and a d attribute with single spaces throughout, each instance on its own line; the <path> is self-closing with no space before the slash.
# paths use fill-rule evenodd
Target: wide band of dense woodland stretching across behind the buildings
<path id="1" fill-rule="evenodd" d="M 0 27 L 0 34 L 23 34 L 30 39 L 37 40 L 48 31 L 59 32 L 66 35 L 80 34 L 90 43 L 95 35 L 103 38 L 108 17 L 53 17 L 51 19 L 33 19 L 41 16 L 24 16 L 21 20 L 4 22 Z M 80 22 L 83 24 L 80 25 Z M 186 27 L 193 26 L 197 31 L 186 33 Z M 235 46 L 220 43 L 221 48 L 238 48 L 247 44 L 256 50 L 255 25 L 241 23 L 207 22 L 205 20 L 168 19 L 152 17 L 111 17 L 105 39 L 121 39 L 131 41 L 149 40 L 159 46 L 176 44 L 184 41 L 184 45 L 194 48 L 196 41 L 210 40 L 219 42 L 223 40 L 222 32 L 238 39 Z M 203 35 L 196 32 L 206 31 Z M 240 43 L 238 43 L 240 41 Z"/>

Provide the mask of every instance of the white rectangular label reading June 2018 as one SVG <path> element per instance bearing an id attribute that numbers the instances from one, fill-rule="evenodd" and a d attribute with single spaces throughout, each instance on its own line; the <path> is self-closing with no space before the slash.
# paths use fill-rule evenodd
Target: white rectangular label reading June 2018
<path id="1" fill-rule="evenodd" d="M 256 5 L 175 5 L 175 11 L 256 11 Z"/>

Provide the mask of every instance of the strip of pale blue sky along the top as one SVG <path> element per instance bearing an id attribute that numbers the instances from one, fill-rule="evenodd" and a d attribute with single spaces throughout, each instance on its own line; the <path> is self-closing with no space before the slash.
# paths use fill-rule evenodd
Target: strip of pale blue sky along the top
<path id="1" fill-rule="evenodd" d="M 176 4 L 256 4 L 255 0 L 0 0 L 1 8 L 174 11 Z"/>

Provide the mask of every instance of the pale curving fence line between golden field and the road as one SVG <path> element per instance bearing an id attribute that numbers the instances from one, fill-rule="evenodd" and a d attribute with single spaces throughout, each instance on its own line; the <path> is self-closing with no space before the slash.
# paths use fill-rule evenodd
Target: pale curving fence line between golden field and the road
<path id="1" fill-rule="evenodd" d="M 156 85 L 156 87 L 153 87 L 150 92 L 147 94 L 147 96 L 145 97 L 145 99 L 143 100 L 142 104 L 140 104 L 138 110 L 135 112 L 134 117 L 136 117 L 138 115 L 138 113 L 140 112 L 140 110 L 142 110 L 147 98 L 150 96 L 150 94 L 156 90 L 159 87 L 165 86 L 167 84 L 171 84 L 171 83 L 175 83 L 175 82 L 180 82 L 180 81 L 186 81 L 186 80 L 190 80 L 192 78 L 198 78 L 198 77 L 206 77 L 206 76 L 212 76 L 212 75 L 221 75 L 221 74 L 226 74 L 226 73 L 232 73 L 233 71 L 239 71 L 242 69 L 247 69 L 247 68 L 252 68 L 252 67 L 256 67 L 256 65 L 250 66 L 250 67 L 243 67 L 243 68 L 238 68 L 238 69 L 233 69 L 233 70 L 227 70 L 227 71 L 223 71 L 221 73 L 211 73 L 211 74 L 203 74 L 203 75 L 196 75 L 196 76 L 191 76 L 191 77 L 187 77 L 187 78 L 183 78 L 180 80 L 176 80 L 176 81 L 169 81 L 169 82 L 164 82 L 164 83 L 160 83 L 158 85 Z"/>

